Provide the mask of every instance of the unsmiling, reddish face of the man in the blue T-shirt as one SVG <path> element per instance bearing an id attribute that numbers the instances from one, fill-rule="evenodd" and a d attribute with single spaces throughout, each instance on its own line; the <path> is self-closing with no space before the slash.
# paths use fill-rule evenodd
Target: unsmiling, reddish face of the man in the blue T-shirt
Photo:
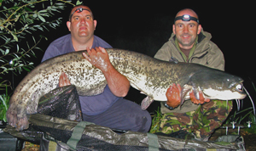
<path id="1" fill-rule="evenodd" d="M 79 8 L 89 9 L 87 7 Z M 77 8 L 73 8 L 72 12 L 76 9 Z M 88 10 L 83 10 L 82 12 L 77 11 L 73 13 L 70 21 L 67 21 L 67 28 L 72 36 L 75 37 L 92 36 L 96 29 L 96 20 L 93 20 L 93 17 Z"/>

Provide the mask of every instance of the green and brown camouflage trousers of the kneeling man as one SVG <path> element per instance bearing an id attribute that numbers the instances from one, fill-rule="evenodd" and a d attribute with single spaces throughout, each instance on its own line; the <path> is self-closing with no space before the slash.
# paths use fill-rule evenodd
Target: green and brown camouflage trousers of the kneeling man
<path id="1" fill-rule="evenodd" d="M 166 113 L 156 120 L 150 132 L 170 134 L 175 131 L 189 131 L 197 138 L 210 137 L 222 125 L 232 109 L 232 101 L 211 100 L 195 111 L 186 113 Z"/>

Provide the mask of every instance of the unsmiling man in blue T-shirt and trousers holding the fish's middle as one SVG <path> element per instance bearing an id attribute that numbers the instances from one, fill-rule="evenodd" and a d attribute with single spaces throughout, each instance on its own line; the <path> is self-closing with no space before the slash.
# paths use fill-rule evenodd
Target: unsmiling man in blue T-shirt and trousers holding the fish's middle
<path id="1" fill-rule="evenodd" d="M 75 51 L 87 50 L 83 54 L 105 76 L 107 86 L 96 96 L 79 96 L 83 119 L 99 126 L 108 126 L 125 131 L 147 132 L 151 126 L 151 116 L 140 105 L 125 99 L 130 82 L 113 68 L 105 48 L 112 48 L 108 42 L 95 36 L 96 20 L 89 7 L 75 6 L 69 15 L 67 29 L 70 34 L 51 42 L 42 62 L 55 56 Z M 61 74 L 59 85 L 70 85 L 65 73 Z"/>

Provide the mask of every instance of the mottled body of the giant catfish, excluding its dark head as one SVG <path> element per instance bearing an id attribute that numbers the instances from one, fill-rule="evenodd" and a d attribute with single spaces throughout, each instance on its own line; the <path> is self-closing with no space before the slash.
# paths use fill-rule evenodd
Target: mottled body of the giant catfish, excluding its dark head
<path id="1" fill-rule="evenodd" d="M 113 67 L 127 77 L 131 87 L 147 95 L 148 100 L 166 101 L 166 90 L 172 83 L 179 83 L 183 87 L 191 83 L 191 74 L 201 70 L 212 72 L 212 69 L 199 64 L 166 62 L 142 53 L 113 48 L 106 50 Z M 39 98 L 57 87 L 62 72 L 76 86 L 79 95 L 92 96 L 103 92 L 107 81 L 102 71 L 84 59 L 82 52 L 46 60 L 20 81 L 10 98 L 7 112 L 10 126 L 17 130 L 28 127 L 26 115 L 37 112 Z M 189 95 L 184 96 L 188 98 Z"/>

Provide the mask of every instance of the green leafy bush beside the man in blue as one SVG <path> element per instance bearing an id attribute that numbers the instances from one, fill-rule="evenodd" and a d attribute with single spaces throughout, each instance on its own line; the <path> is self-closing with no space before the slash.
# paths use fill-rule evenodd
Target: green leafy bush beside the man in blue
<path id="1" fill-rule="evenodd" d="M 40 50 L 38 43 L 47 39 L 36 33 L 60 25 L 61 17 L 55 20 L 52 17 L 61 13 L 66 4 L 74 6 L 71 1 L 64 0 L 0 0 L 0 89 L 11 86 L 10 81 L 3 78 L 10 71 L 16 75 L 32 70 L 31 58 Z M 0 94 L 0 99 L 0 120 L 5 121 L 4 111 L 9 106 L 7 90 Z"/>

